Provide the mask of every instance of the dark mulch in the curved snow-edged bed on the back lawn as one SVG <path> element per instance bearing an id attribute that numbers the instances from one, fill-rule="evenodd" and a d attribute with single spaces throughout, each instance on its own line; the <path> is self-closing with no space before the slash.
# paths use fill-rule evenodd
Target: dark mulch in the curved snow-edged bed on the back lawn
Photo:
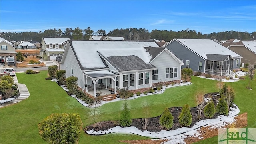
<path id="1" fill-rule="evenodd" d="M 205 98 L 210 98 L 210 97 L 213 98 L 214 103 L 216 104 L 216 100 L 218 100 L 218 98 L 219 98 L 219 93 L 216 92 L 216 93 L 205 94 L 204 97 Z M 172 128 L 169 130 L 175 130 L 175 129 L 181 128 L 182 126 L 179 123 L 178 117 L 180 115 L 182 107 L 172 107 L 172 108 L 169 108 L 169 110 L 172 113 L 172 116 L 174 117 L 174 120 L 173 120 L 174 124 L 173 124 Z M 196 122 L 199 122 L 199 120 L 197 119 L 197 109 L 195 107 L 190 108 L 190 112 L 192 114 L 192 124 L 188 127 L 193 127 L 194 124 L 196 124 Z M 217 116 L 220 116 L 220 114 L 215 114 L 213 116 L 213 118 L 217 118 Z M 148 118 L 149 124 L 148 124 L 146 130 L 148 130 L 150 132 L 160 132 L 161 130 L 166 130 L 166 128 L 162 127 L 159 124 L 159 118 L 160 118 L 160 116 Z M 206 119 L 206 117 L 204 116 L 204 113 L 202 113 L 201 120 L 205 120 L 205 119 Z M 92 130 L 92 129 L 94 129 L 96 131 L 99 131 L 99 130 L 104 131 L 104 130 L 113 128 L 115 126 L 120 126 L 118 121 L 103 121 L 103 122 L 98 122 L 94 125 L 85 127 L 84 132 L 86 132 L 88 130 Z M 141 118 L 133 119 L 131 126 L 134 126 L 141 131 L 145 130 L 142 128 L 142 119 Z"/>

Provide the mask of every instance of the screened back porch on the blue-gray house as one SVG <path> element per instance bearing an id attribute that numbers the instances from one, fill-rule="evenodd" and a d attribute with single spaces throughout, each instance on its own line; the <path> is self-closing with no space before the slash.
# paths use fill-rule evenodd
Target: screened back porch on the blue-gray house
<path id="1" fill-rule="evenodd" d="M 205 73 L 218 76 L 232 76 L 234 58 L 230 55 L 206 54 Z"/>

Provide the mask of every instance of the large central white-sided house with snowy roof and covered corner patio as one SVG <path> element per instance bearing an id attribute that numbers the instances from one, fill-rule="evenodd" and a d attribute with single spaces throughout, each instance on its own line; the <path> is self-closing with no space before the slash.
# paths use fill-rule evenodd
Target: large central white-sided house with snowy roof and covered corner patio
<path id="1" fill-rule="evenodd" d="M 183 63 L 156 42 L 68 40 L 60 60 L 66 77 L 78 77 L 78 86 L 103 83 L 106 88 L 151 88 L 152 84 L 180 81 Z M 167 76 L 168 75 L 168 76 Z"/>

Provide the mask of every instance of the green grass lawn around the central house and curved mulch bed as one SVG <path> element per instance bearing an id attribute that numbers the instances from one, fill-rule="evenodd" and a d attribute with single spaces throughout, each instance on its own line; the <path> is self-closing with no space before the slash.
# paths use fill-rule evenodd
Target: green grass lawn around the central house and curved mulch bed
<path id="1" fill-rule="evenodd" d="M 0 109 L 0 143 L 1 144 L 46 144 L 38 134 L 37 124 L 52 113 L 79 113 L 84 126 L 93 123 L 93 109 L 82 106 L 76 99 L 68 96 L 55 82 L 45 80 L 47 71 L 39 74 L 17 73 L 18 82 L 26 84 L 30 97 L 22 102 Z M 149 106 L 150 117 L 159 116 L 166 107 L 195 106 L 194 95 L 198 91 L 204 93 L 217 92 L 218 81 L 192 77 L 192 84 L 169 88 L 163 94 L 144 96 L 128 101 L 132 118 L 142 118 L 144 105 Z M 248 80 L 228 83 L 234 87 L 236 104 L 241 112 L 248 112 L 248 127 L 256 127 L 254 100 L 256 81 L 251 82 L 253 90 L 247 90 Z M 243 89 L 244 88 L 244 89 Z M 253 100 L 252 100 L 253 98 Z M 104 104 L 96 109 L 96 121 L 118 120 L 123 101 Z M 82 133 L 80 143 L 90 144 L 121 144 L 119 140 L 147 139 L 132 134 L 107 134 L 104 136 L 90 136 Z"/>

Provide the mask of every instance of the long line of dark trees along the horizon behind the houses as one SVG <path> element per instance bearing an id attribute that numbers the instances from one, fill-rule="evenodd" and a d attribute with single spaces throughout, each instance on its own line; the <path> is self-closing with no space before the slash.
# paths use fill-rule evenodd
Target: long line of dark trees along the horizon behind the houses
<path id="1" fill-rule="evenodd" d="M 256 32 L 238 32 L 238 31 L 225 31 L 218 33 L 202 34 L 201 32 L 196 32 L 195 30 L 181 30 L 178 32 L 168 31 L 168 30 L 152 30 L 149 32 L 145 28 L 126 28 L 126 29 L 114 29 L 108 33 L 105 30 L 98 30 L 94 32 L 90 27 L 86 29 L 80 29 L 79 27 L 72 29 L 66 28 L 64 31 L 61 29 L 49 29 L 44 30 L 44 32 L 1 32 L 0 36 L 6 40 L 15 40 L 15 41 L 38 41 L 41 42 L 43 37 L 49 38 L 70 38 L 73 40 L 88 40 L 90 36 L 121 36 L 125 40 L 149 40 L 151 38 L 157 40 L 170 41 L 174 38 L 199 38 L 199 39 L 217 39 L 220 40 L 229 40 L 231 38 L 236 38 L 238 40 L 252 40 L 256 36 Z"/>

